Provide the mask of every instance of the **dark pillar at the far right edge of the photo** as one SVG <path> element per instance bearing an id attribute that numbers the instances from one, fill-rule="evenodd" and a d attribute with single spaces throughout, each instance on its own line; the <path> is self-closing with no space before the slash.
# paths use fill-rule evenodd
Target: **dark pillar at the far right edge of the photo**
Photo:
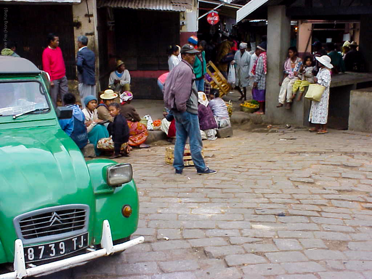
<path id="1" fill-rule="evenodd" d="M 372 71 L 372 15 L 360 16 L 359 51 L 365 61 L 365 71 Z"/>

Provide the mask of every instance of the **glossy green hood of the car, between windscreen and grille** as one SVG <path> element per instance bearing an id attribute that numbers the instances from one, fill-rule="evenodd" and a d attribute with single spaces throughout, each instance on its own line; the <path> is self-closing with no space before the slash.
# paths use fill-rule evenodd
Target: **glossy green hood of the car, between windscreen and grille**
<path id="1" fill-rule="evenodd" d="M 19 214 L 70 203 L 94 206 L 84 157 L 57 125 L 1 130 L 0 164 L 0 227 L 11 235 Z"/>

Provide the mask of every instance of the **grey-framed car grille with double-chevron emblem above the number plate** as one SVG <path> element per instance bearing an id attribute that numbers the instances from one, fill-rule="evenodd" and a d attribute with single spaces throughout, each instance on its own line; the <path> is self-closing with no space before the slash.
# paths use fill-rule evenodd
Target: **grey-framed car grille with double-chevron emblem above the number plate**
<path id="1" fill-rule="evenodd" d="M 23 243 L 68 237 L 87 231 L 89 206 L 62 205 L 31 211 L 15 218 Z"/>

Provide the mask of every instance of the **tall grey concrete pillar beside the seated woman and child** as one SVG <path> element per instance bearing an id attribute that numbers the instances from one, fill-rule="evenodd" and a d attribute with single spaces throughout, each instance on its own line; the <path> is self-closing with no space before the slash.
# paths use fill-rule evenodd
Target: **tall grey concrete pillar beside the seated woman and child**
<path id="1" fill-rule="evenodd" d="M 266 119 L 270 123 L 283 123 L 284 108 L 276 108 L 279 81 L 283 78 L 283 64 L 287 56 L 291 32 L 291 19 L 285 15 L 285 6 L 269 6 L 267 11 L 267 77 Z"/>

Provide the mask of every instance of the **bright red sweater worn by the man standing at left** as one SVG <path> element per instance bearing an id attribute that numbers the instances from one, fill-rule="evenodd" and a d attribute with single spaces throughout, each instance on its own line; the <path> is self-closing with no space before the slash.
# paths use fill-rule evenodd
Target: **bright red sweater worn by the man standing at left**
<path id="1" fill-rule="evenodd" d="M 65 61 L 63 60 L 60 47 L 55 49 L 45 48 L 42 61 L 43 70 L 49 74 L 51 80 L 58 80 L 66 75 Z"/>

